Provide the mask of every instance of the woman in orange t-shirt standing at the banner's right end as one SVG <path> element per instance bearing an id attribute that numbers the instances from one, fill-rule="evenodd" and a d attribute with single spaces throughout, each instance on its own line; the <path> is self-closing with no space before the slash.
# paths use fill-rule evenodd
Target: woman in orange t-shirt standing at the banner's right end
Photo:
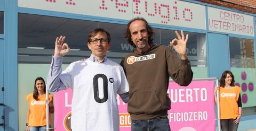
<path id="1" fill-rule="evenodd" d="M 234 83 L 234 75 L 230 71 L 225 71 L 220 78 L 220 87 L 214 90 L 215 103 L 217 103 L 216 92 L 219 89 L 222 131 L 236 131 L 242 116 L 241 88 Z"/>

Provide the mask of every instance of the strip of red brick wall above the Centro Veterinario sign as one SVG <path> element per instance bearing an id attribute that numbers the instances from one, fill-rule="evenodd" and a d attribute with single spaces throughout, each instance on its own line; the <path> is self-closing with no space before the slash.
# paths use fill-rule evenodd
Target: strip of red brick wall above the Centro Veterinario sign
<path id="1" fill-rule="evenodd" d="M 197 0 L 197 1 L 256 14 L 256 0 Z"/>

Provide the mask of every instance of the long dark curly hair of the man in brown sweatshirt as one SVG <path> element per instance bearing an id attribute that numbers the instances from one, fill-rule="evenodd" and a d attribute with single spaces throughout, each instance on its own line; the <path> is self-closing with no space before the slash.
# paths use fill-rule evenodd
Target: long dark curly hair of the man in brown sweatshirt
<path id="1" fill-rule="evenodd" d="M 127 42 L 132 45 L 134 48 L 136 48 L 136 45 L 133 43 L 132 41 L 132 34 L 130 32 L 130 25 L 133 21 L 137 21 L 137 20 L 141 20 L 144 21 L 146 24 L 146 28 L 147 28 L 147 32 L 148 32 L 148 43 L 149 45 L 153 45 L 153 40 L 154 40 L 154 31 L 153 28 L 148 24 L 148 22 L 140 17 L 134 18 L 132 19 L 128 24 L 127 24 L 127 28 L 124 31 L 124 37 L 127 40 Z"/>

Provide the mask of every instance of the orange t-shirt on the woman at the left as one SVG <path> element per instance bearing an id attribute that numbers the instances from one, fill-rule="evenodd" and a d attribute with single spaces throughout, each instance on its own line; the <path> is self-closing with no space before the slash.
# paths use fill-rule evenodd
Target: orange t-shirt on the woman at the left
<path id="1" fill-rule="evenodd" d="M 45 107 L 46 94 L 38 97 L 38 100 L 33 98 L 33 93 L 27 95 L 28 106 L 30 107 L 30 114 L 28 117 L 28 126 L 45 126 L 46 125 L 46 107 Z M 50 101 L 53 95 L 49 94 Z M 51 123 L 51 113 L 49 115 Z"/>

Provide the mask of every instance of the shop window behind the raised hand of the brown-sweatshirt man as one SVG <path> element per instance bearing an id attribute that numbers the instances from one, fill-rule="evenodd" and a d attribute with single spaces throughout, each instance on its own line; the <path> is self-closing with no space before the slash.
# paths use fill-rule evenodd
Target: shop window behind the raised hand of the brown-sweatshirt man
<path id="1" fill-rule="evenodd" d="M 170 41 L 177 38 L 174 30 L 154 28 L 154 43 L 161 43 L 170 47 Z M 178 31 L 180 33 L 180 31 Z M 194 72 L 194 78 L 207 77 L 206 40 L 204 33 L 186 32 L 189 34 L 187 41 L 187 55 Z M 171 47 L 170 47 L 171 48 Z M 174 50 L 174 49 L 173 49 Z M 179 55 L 178 55 L 179 56 Z"/>

